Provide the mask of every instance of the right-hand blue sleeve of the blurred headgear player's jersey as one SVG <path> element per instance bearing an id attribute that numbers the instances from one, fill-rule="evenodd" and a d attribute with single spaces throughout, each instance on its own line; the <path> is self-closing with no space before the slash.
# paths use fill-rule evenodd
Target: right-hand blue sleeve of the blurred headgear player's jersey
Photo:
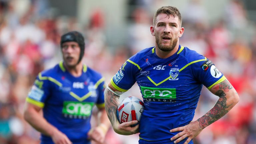
<path id="1" fill-rule="evenodd" d="M 96 106 L 101 109 L 105 107 L 105 102 L 104 102 L 104 90 L 105 90 L 105 79 L 102 77 L 97 83 L 98 87 L 97 87 L 97 91 L 98 91 L 98 100 L 96 102 Z M 97 83 L 95 86 L 97 86 Z"/>

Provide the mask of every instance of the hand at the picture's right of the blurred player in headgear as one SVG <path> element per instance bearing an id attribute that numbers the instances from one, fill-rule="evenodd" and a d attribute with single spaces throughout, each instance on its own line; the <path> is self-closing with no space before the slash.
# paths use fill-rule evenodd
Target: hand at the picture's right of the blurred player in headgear
<path id="1" fill-rule="evenodd" d="M 99 125 L 95 128 L 92 128 L 88 132 L 88 139 L 91 139 L 96 143 L 102 144 L 104 142 L 107 131 L 108 129 L 105 125 Z"/>

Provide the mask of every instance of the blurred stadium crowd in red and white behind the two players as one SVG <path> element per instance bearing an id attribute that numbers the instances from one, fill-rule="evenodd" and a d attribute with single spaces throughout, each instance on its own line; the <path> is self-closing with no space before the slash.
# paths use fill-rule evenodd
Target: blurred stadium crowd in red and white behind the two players
<path id="1" fill-rule="evenodd" d="M 0 0 L 0 144 L 37 144 L 39 133 L 23 119 L 37 74 L 61 58 L 60 35 L 81 31 L 88 66 L 109 82 L 134 53 L 154 46 L 150 25 L 161 6 L 176 6 L 187 46 L 212 60 L 236 88 L 240 102 L 205 128 L 195 144 L 256 144 L 255 0 Z M 137 86 L 125 96 L 141 97 Z M 194 119 L 217 101 L 205 87 Z M 92 126 L 97 124 L 97 109 Z M 106 144 L 136 144 L 138 135 L 109 129 Z"/>

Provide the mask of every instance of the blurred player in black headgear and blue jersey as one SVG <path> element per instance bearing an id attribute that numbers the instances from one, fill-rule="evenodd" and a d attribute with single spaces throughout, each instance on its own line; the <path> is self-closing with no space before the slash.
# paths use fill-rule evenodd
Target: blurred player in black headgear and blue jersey
<path id="1" fill-rule="evenodd" d="M 81 33 L 62 35 L 60 47 L 63 61 L 38 74 L 26 98 L 24 118 L 41 133 L 41 144 L 103 143 L 110 126 L 104 108 L 104 78 L 82 64 Z M 91 128 L 94 105 L 101 115 L 99 125 Z"/>

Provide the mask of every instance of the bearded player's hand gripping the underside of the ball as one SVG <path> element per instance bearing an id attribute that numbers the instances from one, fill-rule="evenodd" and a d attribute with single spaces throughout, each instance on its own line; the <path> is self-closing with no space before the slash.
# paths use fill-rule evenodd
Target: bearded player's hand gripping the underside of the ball
<path id="1" fill-rule="evenodd" d="M 136 125 L 137 124 L 137 125 Z M 134 126 L 136 125 L 136 126 Z M 113 127 L 114 128 L 114 127 Z M 121 123 L 114 128 L 114 131 L 121 135 L 132 135 L 139 132 L 139 124 L 137 120 Z"/>

